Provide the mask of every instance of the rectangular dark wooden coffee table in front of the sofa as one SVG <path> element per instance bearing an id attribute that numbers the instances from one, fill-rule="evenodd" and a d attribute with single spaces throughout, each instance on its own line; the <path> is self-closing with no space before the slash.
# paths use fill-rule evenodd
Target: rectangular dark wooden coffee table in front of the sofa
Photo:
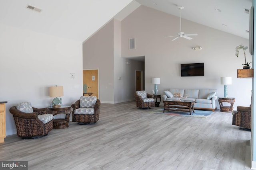
<path id="1" fill-rule="evenodd" d="M 192 115 L 191 110 L 194 110 L 194 100 L 164 100 L 164 111 L 186 111 L 189 110 L 190 115 Z M 173 109 L 175 108 L 175 109 Z M 164 112 L 163 111 L 163 112 Z"/>

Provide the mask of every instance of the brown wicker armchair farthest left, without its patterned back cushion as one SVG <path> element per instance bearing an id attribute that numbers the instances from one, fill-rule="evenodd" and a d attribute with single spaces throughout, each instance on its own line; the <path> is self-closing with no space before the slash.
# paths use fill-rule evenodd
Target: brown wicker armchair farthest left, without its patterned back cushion
<path id="1" fill-rule="evenodd" d="M 52 130 L 53 115 L 47 114 L 47 108 L 38 109 L 31 106 L 31 109 L 32 113 L 20 111 L 17 106 L 12 106 L 9 110 L 13 115 L 18 137 L 36 139 L 48 135 Z"/>

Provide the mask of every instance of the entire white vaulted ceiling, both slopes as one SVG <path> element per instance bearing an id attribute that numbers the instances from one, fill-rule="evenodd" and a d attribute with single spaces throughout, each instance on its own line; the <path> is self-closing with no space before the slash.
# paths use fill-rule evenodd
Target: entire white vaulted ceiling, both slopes
<path id="1" fill-rule="evenodd" d="M 0 0 L 0 24 L 83 42 L 113 17 L 122 20 L 140 4 L 174 16 L 180 16 L 178 7 L 184 6 L 184 19 L 249 38 L 244 9 L 250 9 L 252 0 Z"/>

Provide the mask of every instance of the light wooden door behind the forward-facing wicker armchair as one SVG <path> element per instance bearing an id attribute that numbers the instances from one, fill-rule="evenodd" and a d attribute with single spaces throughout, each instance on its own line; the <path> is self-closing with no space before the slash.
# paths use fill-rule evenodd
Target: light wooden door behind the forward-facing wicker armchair
<path id="1" fill-rule="evenodd" d="M 98 70 L 83 70 L 84 84 L 87 86 L 86 92 L 92 93 L 92 96 L 96 96 L 98 99 Z"/>

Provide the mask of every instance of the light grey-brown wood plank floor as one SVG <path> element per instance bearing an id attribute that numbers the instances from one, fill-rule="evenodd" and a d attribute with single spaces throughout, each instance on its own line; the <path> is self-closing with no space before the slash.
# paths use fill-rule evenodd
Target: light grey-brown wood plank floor
<path id="1" fill-rule="evenodd" d="M 6 137 L 0 160 L 27 160 L 31 170 L 250 169 L 251 133 L 232 125 L 231 113 L 205 119 L 147 111 L 135 102 L 101 104 L 94 125 L 70 122 L 35 140 Z"/>

